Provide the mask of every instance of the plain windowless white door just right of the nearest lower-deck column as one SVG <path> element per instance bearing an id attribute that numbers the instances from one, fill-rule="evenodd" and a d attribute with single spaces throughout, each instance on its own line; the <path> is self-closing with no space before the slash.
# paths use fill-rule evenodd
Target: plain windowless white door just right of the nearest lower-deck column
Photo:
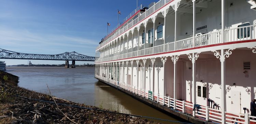
<path id="1" fill-rule="evenodd" d="M 231 92 L 231 112 L 241 113 L 241 95 L 239 91 Z"/>

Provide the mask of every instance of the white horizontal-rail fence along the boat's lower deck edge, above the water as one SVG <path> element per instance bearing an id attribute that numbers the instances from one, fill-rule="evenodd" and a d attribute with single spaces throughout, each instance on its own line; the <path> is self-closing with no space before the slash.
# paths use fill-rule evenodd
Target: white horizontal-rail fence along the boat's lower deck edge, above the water
<path id="1" fill-rule="evenodd" d="M 200 106 L 201 109 L 196 110 L 193 112 L 193 104 L 181 101 L 181 100 L 174 100 L 173 98 L 170 98 L 169 96 L 163 96 L 161 97 L 159 93 L 148 93 L 148 91 L 144 89 L 140 89 L 135 86 L 131 86 L 129 84 L 125 83 L 118 83 L 117 81 L 114 81 L 112 79 L 108 79 L 103 76 L 95 75 L 96 78 L 105 81 L 107 83 L 110 83 L 112 85 L 115 85 L 117 87 L 123 88 L 125 90 L 128 90 L 132 93 L 136 93 L 140 95 L 141 97 L 144 97 L 146 99 L 151 99 L 152 101 L 156 101 L 157 103 L 161 105 L 165 105 L 167 107 L 172 107 L 180 112 L 183 113 L 195 113 L 194 116 L 200 117 L 201 119 L 205 119 L 206 121 L 215 121 L 218 123 L 222 122 L 222 113 L 221 110 L 209 108 L 209 106 Z M 245 114 L 239 114 L 239 113 L 232 113 L 232 112 L 225 112 L 225 123 L 226 124 L 233 124 L 234 122 L 237 122 L 238 124 L 250 124 L 250 122 L 256 122 L 255 116 L 250 116 L 249 113 Z"/>

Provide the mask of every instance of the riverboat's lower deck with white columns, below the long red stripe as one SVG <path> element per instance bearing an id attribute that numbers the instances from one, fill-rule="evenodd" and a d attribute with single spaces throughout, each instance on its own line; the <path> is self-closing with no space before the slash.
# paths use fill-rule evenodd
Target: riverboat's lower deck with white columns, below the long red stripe
<path id="1" fill-rule="evenodd" d="M 96 77 L 195 117 L 248 124 L 255 122 L 249 117 L 256 96 L 255 46 L 243 41 L 107 61 L 96 64 Z M 202 108 L 198 113 L 189 111 L 194 104 Z"/>

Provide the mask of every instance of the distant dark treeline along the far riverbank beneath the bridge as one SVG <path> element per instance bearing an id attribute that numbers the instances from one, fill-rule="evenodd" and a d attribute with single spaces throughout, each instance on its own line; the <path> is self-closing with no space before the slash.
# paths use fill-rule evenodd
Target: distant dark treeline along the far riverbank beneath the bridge
<path id="1" fill-rule="evenodd" d="M 21 64 L 21 65 L 12 65 L 12 66 L 18 66 L 18 67 L 65 67 L 65 64 L 61 64 L 61 65 L 48 65 L 48 64 L 32 64 L 32 65 L 25 65 L 25 64 Z M 69 64 L 69 66 L 71 67 L 71 64 Z M 84 64 L 84 65 L 75 65 L 76 67 L 95 67 L 95 64 Z"/>

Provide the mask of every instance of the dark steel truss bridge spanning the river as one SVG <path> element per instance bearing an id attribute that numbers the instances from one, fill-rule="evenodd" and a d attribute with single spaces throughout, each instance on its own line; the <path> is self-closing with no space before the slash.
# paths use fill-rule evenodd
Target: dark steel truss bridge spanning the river
<path id="1" fill-rule="evenodd" d="M 31 59 L 31 60 L 65 60 L 65 67 L 69 68 L 69 60 L 72 61 L 72 68 L 75 68 L 75 61 L 95 61 L 95 57 L 83 55 L 77 52 L 65 52 L 56 55 L 18 53 L 0 48 L 0 59 Z"/>

